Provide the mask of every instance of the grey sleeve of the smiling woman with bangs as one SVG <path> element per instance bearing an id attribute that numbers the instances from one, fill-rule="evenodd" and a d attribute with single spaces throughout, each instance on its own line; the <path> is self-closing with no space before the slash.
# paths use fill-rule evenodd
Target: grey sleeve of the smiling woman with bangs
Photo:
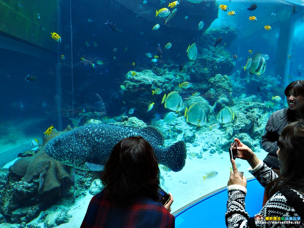
<path id="1" fill-rule="evenodd" d="M 266 152 L 276 156 L 279 134 L 287 124 L 287 109 L 281 109 L 271 114 L 262 136 L 262 147 Z"/>

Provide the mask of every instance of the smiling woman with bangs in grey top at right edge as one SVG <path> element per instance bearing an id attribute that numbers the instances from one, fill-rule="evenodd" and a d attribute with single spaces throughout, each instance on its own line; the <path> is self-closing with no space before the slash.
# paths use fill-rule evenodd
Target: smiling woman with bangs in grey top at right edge
<path id="1" fill-rule="evenodd" d="M 262 136 L 262 147 L 268 152 L 264 163 L 279 173 L 278 138 L 285 126 L 289 123 L 304 119 L 304 80 L 293 81 L 285 88 L 285 96 L 288 107 L 271 114 L 265 126 Z"/>

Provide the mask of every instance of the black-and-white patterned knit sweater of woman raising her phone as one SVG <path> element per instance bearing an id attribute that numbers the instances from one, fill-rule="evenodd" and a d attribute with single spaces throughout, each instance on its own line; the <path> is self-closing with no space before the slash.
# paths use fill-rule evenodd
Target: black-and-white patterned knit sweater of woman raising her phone
<path id="1" fill-rule="evenodd" d="M 257 180 L 265 187 L 269 181 L 277 178 L 277 175 L 268 168 L 262 161 L 254 169 L 249 170 Z M 264 175 L 264 176 L 263 176 Z M 227 212 L 225 213 L 226 225 L 228 228 L 252 228 L 252 227 L 278 227 L 278 224 L 265 219 L 282 219 L 282 217 L 301 218 L 300 224 L 290 224 L 279 227 L 304 227 L 302 216 L 304 216 L 304 195 L 292 189 L 283 189 L 273 195 L 257 215 L 263 216 L 263 221 L 256 221 L 250 217 L 245 210 L 246 188 L 241 185 L 230 185 L 227 188 L 228 201 Z"/>

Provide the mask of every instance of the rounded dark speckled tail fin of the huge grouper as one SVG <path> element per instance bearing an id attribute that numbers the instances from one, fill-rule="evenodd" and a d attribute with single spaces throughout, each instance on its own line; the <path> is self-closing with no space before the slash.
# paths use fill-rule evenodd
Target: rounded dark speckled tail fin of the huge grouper
<path id="1" fill-rule="evenodd" d="M 174 172 L 181 171 L 186 163 L 186 143 L 178 141 L 166 148 L 158 147 L 155 154 L 159 164 L 167 166 Z"/>

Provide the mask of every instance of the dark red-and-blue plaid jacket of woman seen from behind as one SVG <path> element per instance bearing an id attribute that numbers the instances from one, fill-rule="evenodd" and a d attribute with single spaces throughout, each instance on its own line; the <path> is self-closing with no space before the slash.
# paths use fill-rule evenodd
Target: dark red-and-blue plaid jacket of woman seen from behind
<path id="1" fill-rule="evenodd" d="M 111 202 L 100 192 L 93 196 L 80 228 L 173 228 L 175 218 L 164 206 L 139 197 L 128 206 Z"/>

